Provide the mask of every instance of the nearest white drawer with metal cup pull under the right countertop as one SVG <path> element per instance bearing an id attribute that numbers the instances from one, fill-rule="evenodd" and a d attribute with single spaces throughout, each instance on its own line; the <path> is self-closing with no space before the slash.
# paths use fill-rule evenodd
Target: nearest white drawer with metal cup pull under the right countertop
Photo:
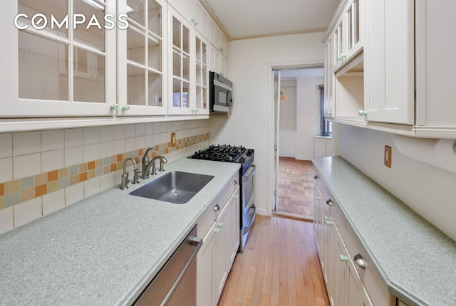
<path id="1" fill-rule="evenodd" d="M 361 246 L 361 243 L 359 243 L 353 229 L 347 226 L 346 235 L 342 238 L 346 243 L 349 256 L 354 263 L 364 287 L 366 287 L 366 291 L 368 292 L 373 305 L 395 305 L 395 299 L 388 293 L 388 288 L 380 279 L 380 275 L 378 275 L 375 270 L 371 258 Z M 365 268 L 361 268 L 361 266 L 357 264 L 356 257 L 359 255 L 361 255 Z"/>

